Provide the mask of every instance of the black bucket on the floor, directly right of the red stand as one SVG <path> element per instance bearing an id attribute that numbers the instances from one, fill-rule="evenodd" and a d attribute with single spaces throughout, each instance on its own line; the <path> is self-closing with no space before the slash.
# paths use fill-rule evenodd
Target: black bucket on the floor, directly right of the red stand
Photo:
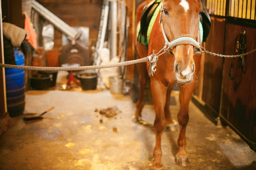
<path id="1" fill-rule="evenodd" d="M 83 90 L 95 90 L 98 82 L 98 74 L 93 72 L 80 73 L 77 75 Z"/>

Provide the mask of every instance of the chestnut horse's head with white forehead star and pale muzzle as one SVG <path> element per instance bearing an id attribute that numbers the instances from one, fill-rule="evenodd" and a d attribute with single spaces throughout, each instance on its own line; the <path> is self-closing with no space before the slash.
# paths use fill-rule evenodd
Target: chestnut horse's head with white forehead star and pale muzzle
<path id="1" fill-rule="evenodd" d="M 199 20 L 202 12 L 200 0 L 163 0 L 161 24 L 167 41 L 186 35 L 200 40 Z M 171 48 L 174 54 L 174 73 L 179 83 L 190 83 L 195 72 L 193 59 L 195 45 L 182 43 Z"/>

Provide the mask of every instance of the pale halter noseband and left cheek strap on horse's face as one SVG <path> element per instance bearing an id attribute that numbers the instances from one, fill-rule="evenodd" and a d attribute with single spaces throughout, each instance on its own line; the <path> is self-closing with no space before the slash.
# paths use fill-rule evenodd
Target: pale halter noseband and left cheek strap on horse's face
<path id="1" fill-rule="evenodd" d="M 163 1 L 161 3 L 161 13 L 160 13 L 160 21 L 161 27 L 162 27 L 162 33 L 163 33 L 163 38 L 165 39 L 165 45 L 167 48 L 172 48 L 174 46 L 178 45 L 193 45 L 197 49 L 201 48 L 199 43 L 195 40 L 194 36 L 191 35 L 181 35 L 175 38 L 173 41 L 168 41 L 167 36 L 165 35 L 165 31 L 163 30 L 163 21 L 162 21 L 162 15 L 163 15 Z"/>

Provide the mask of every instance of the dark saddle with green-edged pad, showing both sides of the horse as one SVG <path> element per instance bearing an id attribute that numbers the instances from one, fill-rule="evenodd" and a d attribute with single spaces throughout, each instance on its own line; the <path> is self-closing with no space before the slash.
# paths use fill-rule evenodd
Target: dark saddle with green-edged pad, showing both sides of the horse
<path id="1" fill-rule="evenodd" d="M 161 0 L 152 0 L 143 8 L 140 25 L 137 30 L 137 41 L 141 44 L 148 45 L 149 35 L 154 24 L 152 20 L 155 20 L 156 15 L 158 15 L 161 2 Z M 200 22 L 203 26 L 203 41 L 205 42 L 211 30 L 211 19 L 207 10 L 204 11 L 200 16 Z"/>

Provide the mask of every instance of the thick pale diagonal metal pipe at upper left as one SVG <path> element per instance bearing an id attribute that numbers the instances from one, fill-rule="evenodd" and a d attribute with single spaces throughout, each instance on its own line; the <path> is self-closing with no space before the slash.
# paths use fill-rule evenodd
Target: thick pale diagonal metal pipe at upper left
<path id="1" fill-rule="evenodd" d="M 51 11 L 47 10 L 47 8 L 40 5 L 40 3 L 36 1 L 31 2 L 31 7 L 38 12 L 45 20 L 52 23 L 57 29 L 61 32 L 65 33 L 65 35 L 69 36 L 71 39 L 75 40 L 78 37 L 78 32 L 75 31 L 72 27 L 54 15 Z"/>

